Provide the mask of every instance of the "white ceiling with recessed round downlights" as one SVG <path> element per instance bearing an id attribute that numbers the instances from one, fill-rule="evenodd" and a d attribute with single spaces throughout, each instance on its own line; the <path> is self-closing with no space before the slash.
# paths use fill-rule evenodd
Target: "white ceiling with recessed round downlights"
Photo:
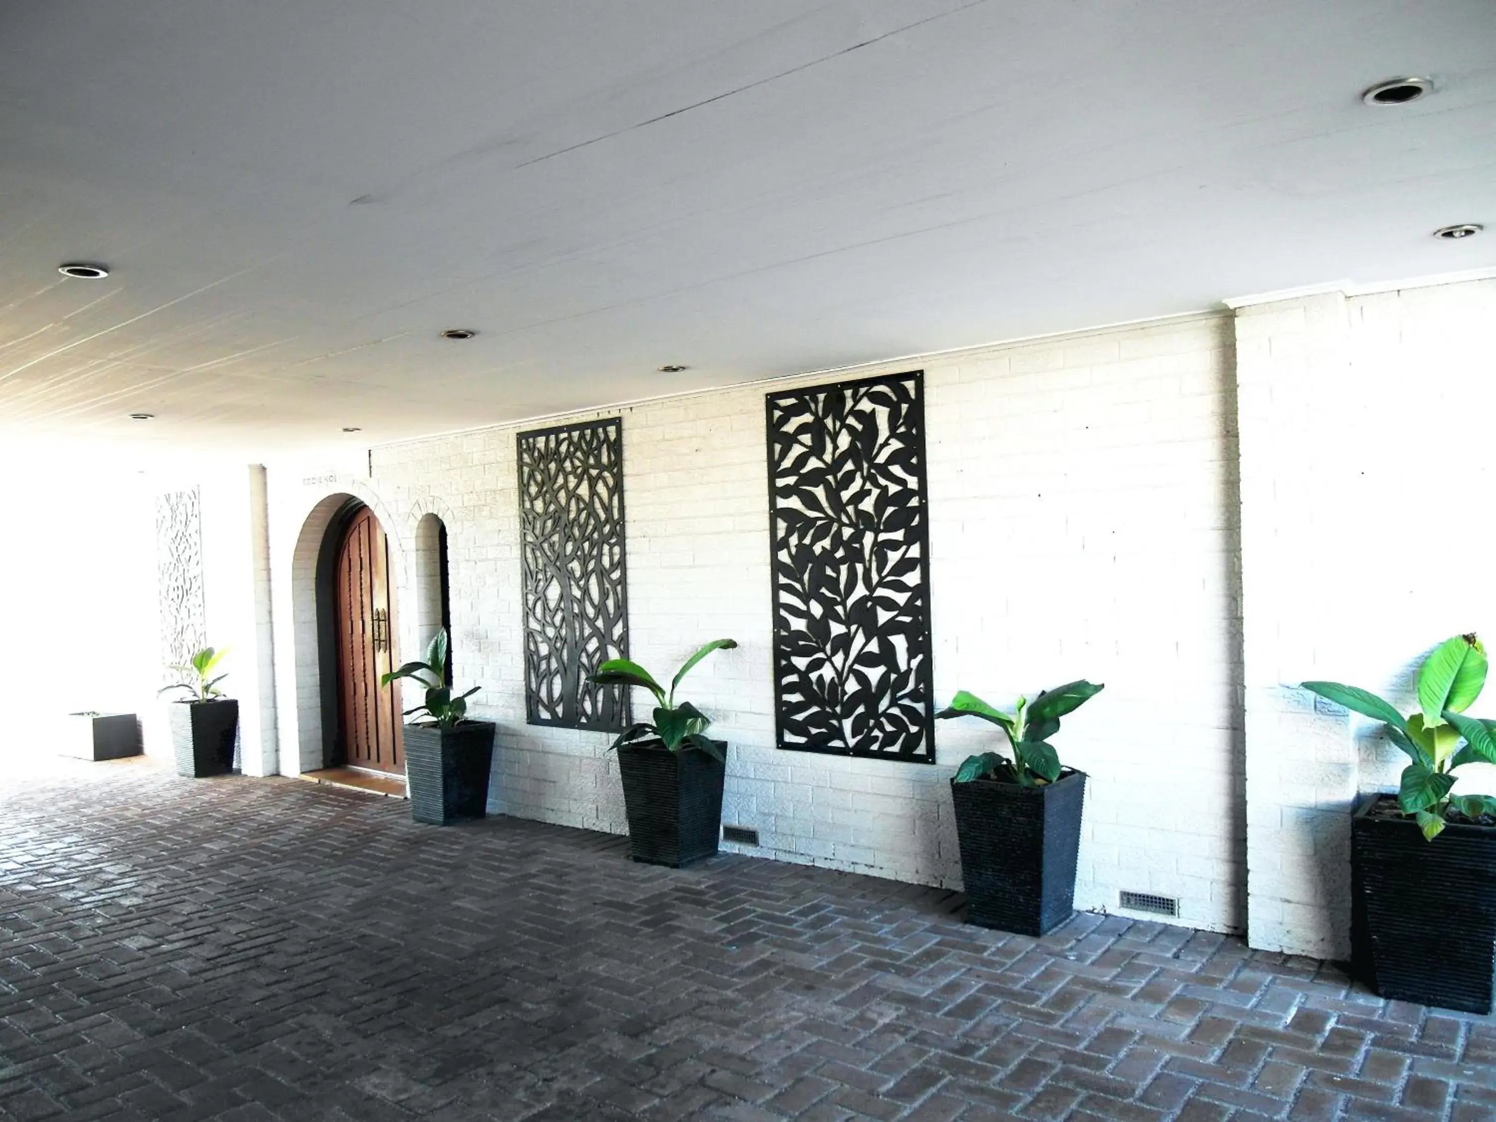
<path id="1" fill-rule="evenodd" d="M 368 443 L 1493 263 L 1490 0 L 0 6 L 12 441 Z"/>

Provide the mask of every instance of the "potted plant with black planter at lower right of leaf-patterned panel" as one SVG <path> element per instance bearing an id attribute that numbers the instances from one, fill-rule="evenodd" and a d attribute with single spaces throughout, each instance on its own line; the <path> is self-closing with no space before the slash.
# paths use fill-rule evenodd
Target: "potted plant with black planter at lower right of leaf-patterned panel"
<path id="1" fill-rule="evenodd" d="M 1019 697 L 1013 714 L 962 690 L 935 714 L 990 721 L 1013 751 L 971 755 L 950 781 L 969 923 L 1044 935 L 1074 914 L 1086 775 L 1062 767 L 1049 738 L 1101 688 L 1070 682 L 1032 702 Z"/>

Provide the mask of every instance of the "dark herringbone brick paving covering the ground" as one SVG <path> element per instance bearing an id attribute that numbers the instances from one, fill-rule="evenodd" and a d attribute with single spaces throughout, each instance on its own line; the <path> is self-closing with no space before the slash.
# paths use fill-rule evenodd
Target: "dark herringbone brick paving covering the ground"
<path id="1" fill-rule="evenodd" d="M 0 794 L 0 1115 L 1493 1119 L 1496 1025 L 1237 939 L 284 779 Z"/>

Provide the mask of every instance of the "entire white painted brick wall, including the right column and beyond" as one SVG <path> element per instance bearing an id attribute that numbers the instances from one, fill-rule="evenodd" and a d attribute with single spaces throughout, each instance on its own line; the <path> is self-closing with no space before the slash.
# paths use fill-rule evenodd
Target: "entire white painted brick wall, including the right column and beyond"
<path id="1" fill-rule="evenodd" d="M 1138 889 L 1179 896 L 1192 926 L 1249 914 L 1254 945 L 1345 953 L 1346 811 L 1400 763 L 1293 687 L 1337 678 L 1411 708 L 1429 645 L 1496 634 L 1493 353 L 1496 281 L 1474 281 L 859 371 L 926 371 L 936 699 L 1107 684 L 1059 739 L 1092 776 L 1080 907 Z M 959 886 L 945 779 L 983 727 L 939 724 L 936 767 L 772 747 L 766 389 L 557 419 L 624 417 L 633 652 L 669 672 L 700 640 L 742 642 L 690 694 L 733 744 L 724 818 L 757 827 L 758 853 Z M 311 573 L 352 494 L 390 534 L 401 655 L 431 625 L 419 521 L 447 525 L 456 678 L 500 724 L 495 809 L 624 830 L 609 738 L 524 724 L 515 432 L 380 447 L 373 477 L 362 449 L 272 464 L 269 604 L 254 536 L 211 528 L 253 525 L 253 492 L 238 480 L 206 513 L 224 492 L 205 488 L 214 637 L 242 633 L 259 661 L 275 643 L 263 766 L 277 739 L 281 772 L 320 764 Z M 254 606 L 223 615 L 232 595 Z"/>

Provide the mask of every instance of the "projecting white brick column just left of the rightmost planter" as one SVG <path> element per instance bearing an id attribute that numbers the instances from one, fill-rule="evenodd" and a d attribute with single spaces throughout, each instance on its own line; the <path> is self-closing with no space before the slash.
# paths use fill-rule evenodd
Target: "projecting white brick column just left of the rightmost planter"
<path id="1" fill-rule="evenodd" d="M 1333 613 L 1343 515 L 1337 392 L 1349 317 L 1339 292 L 1243 307 L 1236 319 L 1242 488 L 1248 941 L 1345 957 L 1357 749 L 1343 717 L 1294 687 L 1313 676 Z"/>

